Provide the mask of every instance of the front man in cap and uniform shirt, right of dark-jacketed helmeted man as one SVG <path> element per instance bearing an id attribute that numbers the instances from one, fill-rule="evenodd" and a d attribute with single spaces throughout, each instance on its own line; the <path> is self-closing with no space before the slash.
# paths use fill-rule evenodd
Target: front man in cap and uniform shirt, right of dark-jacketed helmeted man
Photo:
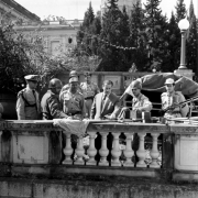
<path id="1" fill-rule="evenodd" d="M 84 96 L 78 91 L 78 77 L 69 79 L 69 89 L 61 94 L 59 99 L 63 105 L 63 111 L 72 119 L 84 119 L 85 100 Z"/>

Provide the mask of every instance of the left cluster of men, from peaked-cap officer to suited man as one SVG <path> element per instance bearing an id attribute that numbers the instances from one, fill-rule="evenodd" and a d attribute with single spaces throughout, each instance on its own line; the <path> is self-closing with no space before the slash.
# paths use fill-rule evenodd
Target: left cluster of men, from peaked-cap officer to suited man
<path id="1" fill-rule="evenodd" d="M 78 74 L 70 72 L 69 81 L 64 87 L 59 79 L 53 78 L 41 102 L 35 90 L 38 76 L 28 75 L 24 78 L 26 87 L 18 94 L 16 101 L 19 120 L 116 119 L 120 112 L 119 97 L 111 92 L 113 82 L 105 80 L 100 92 L 91 81 L 90 73 L 86 73 L 86 81 L 79 84 Z"/>

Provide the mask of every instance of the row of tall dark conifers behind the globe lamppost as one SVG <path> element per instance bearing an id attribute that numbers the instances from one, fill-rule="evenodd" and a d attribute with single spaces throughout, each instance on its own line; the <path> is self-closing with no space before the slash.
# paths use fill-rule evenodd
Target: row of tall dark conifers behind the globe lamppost
<path id="1" fill-rule="evenodd" d="M 162 14 L 160 3 L 161 0 L 146 0 L 142 9 L 138 1 L 129 14 L 124 7 L 119 10 L 118 0 L 108 0 L 102 18 L 95 16 L 91 25 L 84 23 L 78 34 L 81 34 L 81 41 L 89 40 L 82 42 L 84 48 L 90 48 L 89 53 L 102 59 L 98 70 L 127 72 L 133 63 L 140 72 L 150 72 L 152 68 L 174 72 L 179 67 L 178 21 L 186 16 L 186 6 L 184 0 L 177 0 L 175 14 L 172 12 L 167 20 Z M 194 6 L 190 7 L 193 10 Z M 195 72 L 197 29 L 193 11 L 188 19 L 187 66 Z"/>

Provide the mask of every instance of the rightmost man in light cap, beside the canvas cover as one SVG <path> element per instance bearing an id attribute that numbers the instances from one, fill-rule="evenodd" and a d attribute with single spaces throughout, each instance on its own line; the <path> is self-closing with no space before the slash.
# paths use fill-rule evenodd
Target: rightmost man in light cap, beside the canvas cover
<path id="1" fill-rule="evenodd" d="M 167 110 L 164 114 L 165 118 L 180 118 L 186 117 L 188 113 L 188 105 L 174 108 L 175 103 L 185 101 L 185 97 L 180 91 L 175 91 L 175 81 L 172 78 L 166 79 L 165 81 L 166 92 L 163 92 L 161 96 L 162 99 L 162 109 Z"/>

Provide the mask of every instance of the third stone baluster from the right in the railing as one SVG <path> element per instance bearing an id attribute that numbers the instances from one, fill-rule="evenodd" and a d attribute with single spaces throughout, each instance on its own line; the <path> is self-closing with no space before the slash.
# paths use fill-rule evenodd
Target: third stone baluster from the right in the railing
<path id="1" fill-rule="evenodd" d="M 133 167 L 134 163 L 132 162 L 132 156 L 134 155 L 134 151 L 132 150 L 132 134 L 131 133 L 124 133 L 127 136 L 127 145 L 125 150 L 123 151 L 123 154 L 127 158 L 123 166 Z"/>

